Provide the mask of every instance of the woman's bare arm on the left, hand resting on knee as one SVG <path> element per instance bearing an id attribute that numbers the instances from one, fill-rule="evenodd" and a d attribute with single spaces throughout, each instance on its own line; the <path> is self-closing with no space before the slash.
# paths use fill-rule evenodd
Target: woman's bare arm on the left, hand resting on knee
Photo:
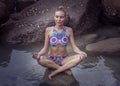
<path id="1" fill-rule="evenodd" d="M 38 58 L 40 56 L 42 56 L 43 54 L 45 54 L 48 51 L 48 46 L 49 46 L 49 32 L 50 32 L 50 28 L 46 28 L 45 30 L 45 41 L 44 41 L 44 46 L 43 48 L 40 50 L 40 52 L 38 52 Z"/>

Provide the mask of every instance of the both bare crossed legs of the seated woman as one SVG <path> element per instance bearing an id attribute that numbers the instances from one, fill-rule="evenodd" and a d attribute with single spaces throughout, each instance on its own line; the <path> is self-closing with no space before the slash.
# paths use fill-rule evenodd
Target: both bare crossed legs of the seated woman
<path id="1" fill-rule="evenodd" d="M 52 77 L 54 77 L 56 74 L 63 72 L 63 71 L 70 75 L 71 71 L 69 69 L 79 64 L 83 58 L 84 57 L 80 57 L 80 55 L 78 54 L 69 56 L 62 61 L 61 63 L 62 66 L 60 66 L 56 64 L 54 61 L 52 61 L 51 59 L 45 56 L 41 56 L 40 59 L 38 60 L 38 63 L 44 67 L 55 69 L 53 72 L 51 72 L 48 75 L 48 78 L 52 79 Z"/>

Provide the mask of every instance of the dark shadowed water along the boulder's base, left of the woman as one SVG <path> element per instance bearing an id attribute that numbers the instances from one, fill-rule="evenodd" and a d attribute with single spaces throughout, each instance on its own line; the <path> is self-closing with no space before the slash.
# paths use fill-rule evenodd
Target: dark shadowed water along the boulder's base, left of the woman
<path id="1" fill-rule="evenodd" d="M 32 52 L 38 52 L 43 44 L 35 43 L 31 45 L 8 45 L 8 44 L 0 44 L 0 66 L 1 67 L 7 67 L 10 59 L 11 59 L 11 53 L 13 50 L 18 51 L 25 51 L 24 53 L 32 53 Z M 39 46 L 39 48 L 38 48 Z"/>

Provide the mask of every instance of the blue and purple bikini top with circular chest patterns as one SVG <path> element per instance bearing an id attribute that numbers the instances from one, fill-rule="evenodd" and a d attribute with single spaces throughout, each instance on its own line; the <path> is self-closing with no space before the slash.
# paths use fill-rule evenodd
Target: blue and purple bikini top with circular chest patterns
<path id="1" fill-rule="evenodd" d="M 51 46 L 57 46 L 57 45 L 66 46 L 69 43 L 66 27 L 63 28 L 63 31 L 61 33 L 58 33 L 54 27 L 49 43 Z"/>

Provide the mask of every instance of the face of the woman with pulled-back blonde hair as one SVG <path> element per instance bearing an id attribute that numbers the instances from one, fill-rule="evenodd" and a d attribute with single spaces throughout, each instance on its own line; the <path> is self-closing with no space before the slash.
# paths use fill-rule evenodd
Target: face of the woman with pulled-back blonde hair
<path id="1" fill-rule="evenodd" d="M 56 11 L 54 16 L 55 24 L 58 26 L 64 25 L 66 20 L 65 13 L 63 11 Z"/>

